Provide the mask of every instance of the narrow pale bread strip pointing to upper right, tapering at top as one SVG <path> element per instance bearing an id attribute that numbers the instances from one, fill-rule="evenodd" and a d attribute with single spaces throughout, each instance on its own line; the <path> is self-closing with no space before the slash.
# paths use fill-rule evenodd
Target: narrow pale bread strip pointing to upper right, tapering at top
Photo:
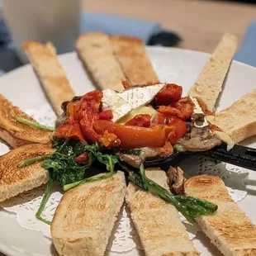
<path id="1" fill-rule="evenodd" d="M 226 33 L 188 92 L 189 96 L 205 102 L 208 110 L 215 110 L 216 100 L 230 69 L 237 44 L 235 36 Z"/>

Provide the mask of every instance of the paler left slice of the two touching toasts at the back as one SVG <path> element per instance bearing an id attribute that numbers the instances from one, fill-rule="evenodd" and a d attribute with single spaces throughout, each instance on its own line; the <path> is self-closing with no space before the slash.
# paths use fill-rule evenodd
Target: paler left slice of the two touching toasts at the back
<path id="1" fill-rule="evenodd" d="M 99 88 L 122 92 L 125 74 L 111 48 L 109 37 L 100 32 L 83 34 L 76 42 L 78 56 Z"/>

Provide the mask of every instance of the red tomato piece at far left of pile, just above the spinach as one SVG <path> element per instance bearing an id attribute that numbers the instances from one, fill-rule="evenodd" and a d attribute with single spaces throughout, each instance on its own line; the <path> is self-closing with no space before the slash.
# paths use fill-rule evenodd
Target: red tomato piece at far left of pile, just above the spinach
<path id="1" fill-rule="evenodd" d="M 78 123 L 60 125 L 58 129 L 55 130 L 55 136 L 59 139 L 74 139 L 85 142 Z"/>

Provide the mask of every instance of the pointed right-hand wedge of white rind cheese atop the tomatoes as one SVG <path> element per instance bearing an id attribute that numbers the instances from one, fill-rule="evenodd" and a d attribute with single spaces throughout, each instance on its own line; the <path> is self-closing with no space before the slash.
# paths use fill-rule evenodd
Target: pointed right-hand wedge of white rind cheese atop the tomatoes
<path id="1" fill-rule="evenodd" d="M 145 87 L 134 87 L 117 94 L 135 109 L 136 107 L 144 106 L 151 102 L 164 86 L 165 83 L 159 83 Z"/>

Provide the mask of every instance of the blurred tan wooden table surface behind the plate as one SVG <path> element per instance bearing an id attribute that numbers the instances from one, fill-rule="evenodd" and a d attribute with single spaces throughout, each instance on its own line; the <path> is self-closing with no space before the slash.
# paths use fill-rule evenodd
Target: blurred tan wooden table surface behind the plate
<path id="1" fill-rule="evenodd" d="M 183 37 L 178 47 L 212 52 L 225 32 L 243 38 L 256 5 L 193 0 L 83 0 L 83 8 L 157 21 Z"/>

